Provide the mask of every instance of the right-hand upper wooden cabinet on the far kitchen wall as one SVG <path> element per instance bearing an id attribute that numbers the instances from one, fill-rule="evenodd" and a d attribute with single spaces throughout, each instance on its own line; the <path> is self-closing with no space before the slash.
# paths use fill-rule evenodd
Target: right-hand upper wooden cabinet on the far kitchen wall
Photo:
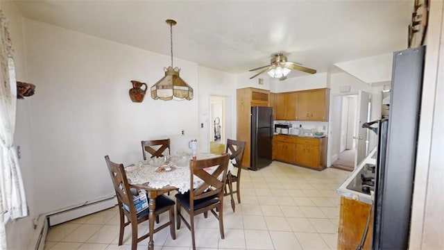
<path id="1" fill-rule="evenodd" d="M 296 120 L 328 121 L 330 90 L 304 90 L 296 92 Z"/>

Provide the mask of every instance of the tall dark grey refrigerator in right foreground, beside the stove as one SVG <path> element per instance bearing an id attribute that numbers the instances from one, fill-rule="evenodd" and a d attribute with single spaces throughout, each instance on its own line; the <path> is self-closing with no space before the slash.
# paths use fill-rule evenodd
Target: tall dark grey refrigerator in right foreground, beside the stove
<path id="1" fill-rule="evenodd" d="M 388 119 L 379 122 L 373 249 L 408 249 L 425 47 L 393 53 Z"/>

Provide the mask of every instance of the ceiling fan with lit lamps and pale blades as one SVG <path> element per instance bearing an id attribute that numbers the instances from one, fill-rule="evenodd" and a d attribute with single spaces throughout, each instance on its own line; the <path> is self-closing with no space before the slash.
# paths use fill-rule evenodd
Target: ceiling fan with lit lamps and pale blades
<path id="1" fill-rule="evenodd" d="M 282 53 L 276 53 L 275 57 L 271 58 L 270 65 L 250 69 L 249 71 L 253 72 L 257 69 L 262 70 L 254 76 L 251 76 L 250 79 L 259 76 L 259 74 L 267 72 L 269 76 L 279 78 L 279 81 L 282 81 L 287 79 L 287 75 L 291 72 L 291 69 L 300 70 L 309 74 L 316 73 L 316 69 L 302 67 L 300 63 L 287 62 L 287 56 L 284 56 Z"/>

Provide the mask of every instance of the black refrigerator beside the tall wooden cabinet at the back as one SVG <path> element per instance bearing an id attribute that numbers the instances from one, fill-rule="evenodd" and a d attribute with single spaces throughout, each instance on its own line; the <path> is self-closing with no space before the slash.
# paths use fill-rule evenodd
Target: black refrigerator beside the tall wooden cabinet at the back
<path id="1" fill-rule="evenodd" d="M 273 133 L 273 108 L 251 107 L 251 170 L 270 165 Z"/>

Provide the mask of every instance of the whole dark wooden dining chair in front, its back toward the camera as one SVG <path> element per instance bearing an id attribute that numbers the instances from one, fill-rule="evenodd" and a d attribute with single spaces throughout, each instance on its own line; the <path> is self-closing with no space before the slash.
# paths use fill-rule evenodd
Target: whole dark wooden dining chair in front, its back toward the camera
<path id="1" fill-rule="evenodd" d="M 176 194 L 177 229 L 180 228 L 180 221 L 182 220 L 191 231 L 193 249 L 196 249 L 194 216 L 200 213 L 203 213 L 206 218 L 208 211 L 211 211 L 214 217 L 219 219 L 221 238 L 225 238 L 223 234 L 223 188 L 228 173 L 228 160 L 228 155 L 203 160 L 190 160 L 190 190 L 185 194 Z M 209 169 L 210 167 L 211 169 Z M 203 183 L 194 188 L 193 183 L 198 178 Z M 189 223 L 181 213 L 182 208 L 189 215 Z"/>

